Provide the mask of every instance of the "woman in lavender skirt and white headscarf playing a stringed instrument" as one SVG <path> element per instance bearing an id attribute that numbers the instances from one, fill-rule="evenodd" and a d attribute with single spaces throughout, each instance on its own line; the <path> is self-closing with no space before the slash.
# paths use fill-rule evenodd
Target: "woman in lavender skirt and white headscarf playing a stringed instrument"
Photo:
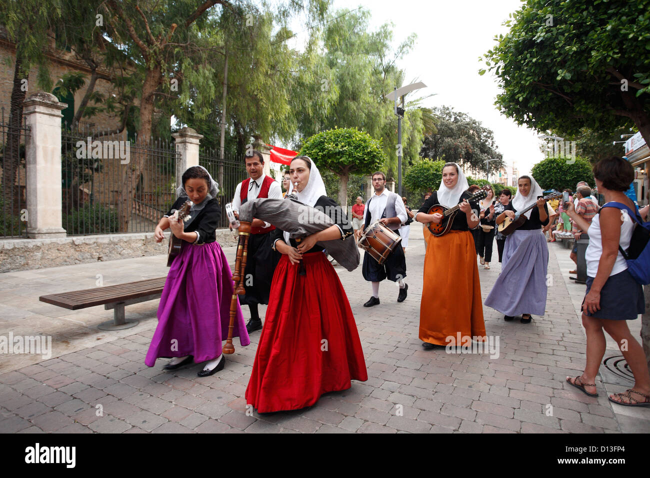
<path id="1" fill-rule="evenodd" d="M 517 211 L 536 206 L 525 213 L 526 221 L 506 237 L 501 274 L 485 305 L 504 314 L 512 321 L 521 314 L 521 323 L 532 320 L 530 314 L 544 315 L 546 309 L 546 274 L 549 266 L 549 248 L 541 232 L 549 223 L 549 210 L 537 181 L 531 176 L 521 176 L 515 198 L 497 217 L 501 224 L 506 216 L 515 217 Z"/>

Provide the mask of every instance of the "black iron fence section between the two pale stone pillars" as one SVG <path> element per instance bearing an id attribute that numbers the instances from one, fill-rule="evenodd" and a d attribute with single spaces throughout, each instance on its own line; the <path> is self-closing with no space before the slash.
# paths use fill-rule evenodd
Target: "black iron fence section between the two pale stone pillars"
<path id="1" fill-rule="evenodd" d="M 68 235 L 152 232 L 175 199 L 174 142 L 66 126 L 62 226 Z"/>

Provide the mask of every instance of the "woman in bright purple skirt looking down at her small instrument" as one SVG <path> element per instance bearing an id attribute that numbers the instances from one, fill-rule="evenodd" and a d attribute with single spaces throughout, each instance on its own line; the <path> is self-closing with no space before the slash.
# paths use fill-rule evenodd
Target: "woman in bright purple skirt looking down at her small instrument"
<path id="1" fill-rule="evenodd" d="M 181 252 L 167 274 L 158 307 L 158 326 L 145 359 L 153 367 L 159 357 L 172 358 L 165 370 L 174 370 L 192 362 L 207 362 L 199 377 L 208 377 L 224 368 L 222 338 L 230 323 L 230 300 L 233 279 L 224 252 L 216 242 L 214 230 L 221 216 L 215 196 L 216 182 L 202 166 L 192 166 L 183 173 L 179 198 L 162 217 L 155 230 L 161 242 L 162 231 L 183 239 Z M 174 211 L 185 201 L 192 208 L 185 220 L 177 220 Z M 233 337 L 242 346 L 250 343 L 244 317 L 237 302 L 237 320 Z"/>

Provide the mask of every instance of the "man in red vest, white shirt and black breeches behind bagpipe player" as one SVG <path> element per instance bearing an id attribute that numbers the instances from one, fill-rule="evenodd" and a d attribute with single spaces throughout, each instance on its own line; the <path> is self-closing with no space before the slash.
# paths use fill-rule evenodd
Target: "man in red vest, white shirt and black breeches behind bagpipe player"
<path id="1" fill-rule="evenodd" d="M 257 198 L 282 198 L 282 189 L 277 181 L 264 174 L 264 157 L 259 151 L 253 150 L 246 155 L 246 172 L 248 179 L 240 182 L 235 189 L 233 211 L 239 218 L 239 208 L 242 204 Z M 248 254 L 244 270 L 244 288 L 246 295 L 239 296 L 240 304 L 248 304 L 250 321 L 246 324 L 248 333 L 262 328 L 257 306 L 268 304 L 273 272 L 278 265 L 279 254 L 271 247 L 270 233 L 275 229 L 268 222 L 253 219 L 251 235 L 248 238 Z"/>

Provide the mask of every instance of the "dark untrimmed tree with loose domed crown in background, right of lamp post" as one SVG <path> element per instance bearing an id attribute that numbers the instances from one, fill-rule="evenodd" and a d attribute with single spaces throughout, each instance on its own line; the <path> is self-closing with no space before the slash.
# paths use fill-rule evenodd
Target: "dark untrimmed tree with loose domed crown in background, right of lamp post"
<path id="1" fill-rule="evenodd" d="M 469 114 L 443 106 L 432 110 L 435 131 L 422 141 L 420 155 L 445 162 L 469 165 L 474 172 L 486 172 L 487 159 L 502 159 L 494 133 Z M 491 170 L 498 170 L 502 161 L 490 161 Z"/>

